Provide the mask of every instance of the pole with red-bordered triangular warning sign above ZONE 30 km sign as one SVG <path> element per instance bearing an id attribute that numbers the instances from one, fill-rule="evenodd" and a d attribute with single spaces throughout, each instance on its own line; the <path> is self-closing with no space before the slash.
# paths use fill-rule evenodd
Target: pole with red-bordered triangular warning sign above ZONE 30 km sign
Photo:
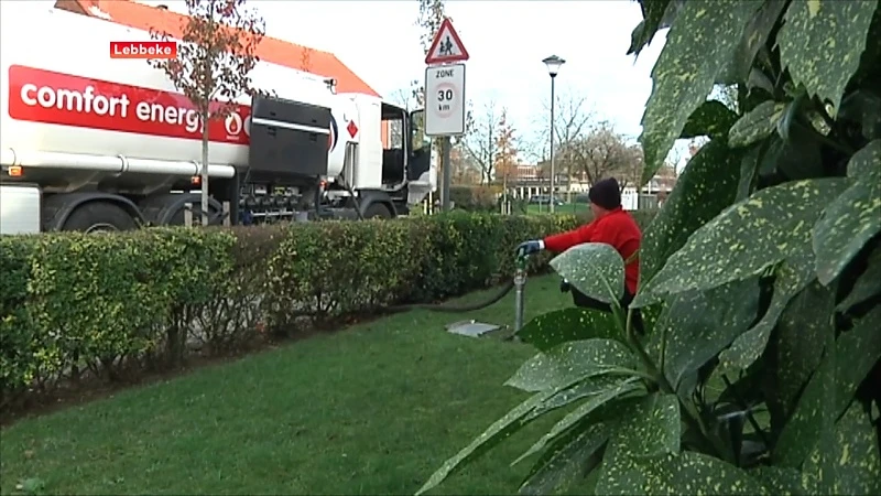
<path id="1" fill-rule="evenodd" d="M 440 186 L 443 209 L 449 209 L 450 137 L 465 134 L 465 62 L 468 51 L 444 19 L 425 55 L 425 136 L 440 138 L 444 177 Z"/>

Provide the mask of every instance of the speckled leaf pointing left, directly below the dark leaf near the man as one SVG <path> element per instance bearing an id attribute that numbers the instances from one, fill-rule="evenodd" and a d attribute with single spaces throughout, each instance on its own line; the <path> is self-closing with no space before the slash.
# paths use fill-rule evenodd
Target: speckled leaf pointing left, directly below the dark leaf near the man
<path id="1" fill-rule="evenodd" d="M 531 392 L 546 391 L 588 377 L 631 368 L 634 362 L 630 348 L 619 341 L 574 341 L 533 356 L 504 385 Z"/>

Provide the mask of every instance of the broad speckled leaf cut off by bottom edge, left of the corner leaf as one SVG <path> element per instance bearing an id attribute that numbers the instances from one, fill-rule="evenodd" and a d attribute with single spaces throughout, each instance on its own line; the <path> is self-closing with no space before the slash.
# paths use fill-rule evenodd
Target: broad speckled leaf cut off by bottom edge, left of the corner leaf
<path id="1" fill-rule="evenodd" d="M 768 489 L 746 471 L 719 459 L 684 451 L 654 457 L 603 461 L 596 494 L 763 495 Z"/>

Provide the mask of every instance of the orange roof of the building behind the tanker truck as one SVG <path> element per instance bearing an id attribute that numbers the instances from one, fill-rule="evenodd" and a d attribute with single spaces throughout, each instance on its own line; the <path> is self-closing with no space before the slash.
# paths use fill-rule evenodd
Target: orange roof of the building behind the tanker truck
<path id="1" fill-rule="evenodd" d="M 98 8 L 110 17 L 110 21 L 138 30 L 165 31 L 174 37 L 181 37 L 186 15 L 165 9 L 144 6 L 130 0 L 58 0 L 58 9 L 105 19 L 93 8 Z M 272 62 L 297 71 L 319 76 L 333 77 L 337 80 L 337 91 L 361 93 L 380 96 L 363 79 L 346 67 L 333 53 L 296 45 L 271 36 L 264 36 L 257 46 L 257 56 L 261 61 Z"/>

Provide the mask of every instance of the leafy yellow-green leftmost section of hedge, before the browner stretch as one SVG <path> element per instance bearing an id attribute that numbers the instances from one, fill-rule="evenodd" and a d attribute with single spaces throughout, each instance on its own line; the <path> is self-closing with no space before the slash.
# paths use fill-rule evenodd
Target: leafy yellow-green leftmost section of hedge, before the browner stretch
<path id="1" fill-rule="evenodd" d="M 232 241 L 167 229 L 0 238 L 3 399 L 61 374 L 116 378 L 155 354 L 172 309 L 203 303 L 226 277 Z"/>

